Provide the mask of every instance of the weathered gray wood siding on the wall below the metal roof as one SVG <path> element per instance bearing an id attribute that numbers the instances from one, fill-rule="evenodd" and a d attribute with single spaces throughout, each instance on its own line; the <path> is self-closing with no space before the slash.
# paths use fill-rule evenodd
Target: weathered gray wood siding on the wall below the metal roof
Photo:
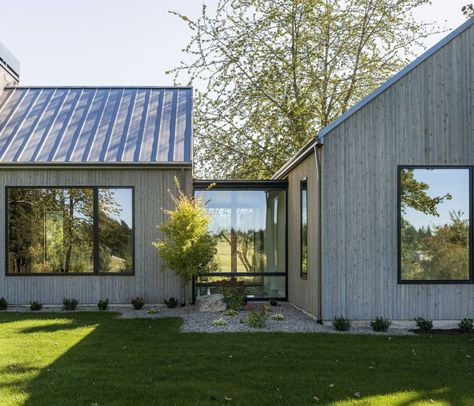
<path id="1" fill-rule="evenodd" d="M 165 218 L 161 208 L 171 208 L 168 189 L 176 189 L 174 177 L 184 179 L 191 193 L 191 170 L 180 169 L 0 169 L 0 297 L 9 303 L 37 300 L 59 304 L 63 297 L 80 303 L 130 303 L 143 297 L 160 303 L 179 297 L 181 284 L 171 272 L 161 272 L 161 260 L 152 247 L 158 236 L 156 225 Z M 183 184 L 183 180 L 181 180 Z M 134 186 L 135 188 L 135 275 L 103 276 L 6 276 L 5 275 L 5 186 Z"/>

